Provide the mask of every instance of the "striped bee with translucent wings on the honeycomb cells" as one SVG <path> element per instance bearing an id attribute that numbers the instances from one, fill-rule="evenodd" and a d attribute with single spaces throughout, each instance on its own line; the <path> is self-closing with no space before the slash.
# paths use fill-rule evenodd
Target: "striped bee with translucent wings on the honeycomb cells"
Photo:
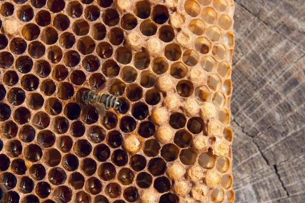
<path id="1" fill-rule="evenodd" d="M 94 106 L 101 116 L 105 116 L 109 108 L 120 108 L 122 103 L 119 98 L 108 93 L 114 81 L 115 78 L 109 78 L 99 89 L 84 91 L 81 97 L 83 103 Z"/>

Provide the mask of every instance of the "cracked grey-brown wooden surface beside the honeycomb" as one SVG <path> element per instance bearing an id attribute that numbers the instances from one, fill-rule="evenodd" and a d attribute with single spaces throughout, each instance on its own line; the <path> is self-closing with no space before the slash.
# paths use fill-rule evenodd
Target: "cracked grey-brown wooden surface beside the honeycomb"
<path id="1" fill-rule="evenodd" d="M 235 5 L 235 202 L 305 202 L 305 2 Z"/>

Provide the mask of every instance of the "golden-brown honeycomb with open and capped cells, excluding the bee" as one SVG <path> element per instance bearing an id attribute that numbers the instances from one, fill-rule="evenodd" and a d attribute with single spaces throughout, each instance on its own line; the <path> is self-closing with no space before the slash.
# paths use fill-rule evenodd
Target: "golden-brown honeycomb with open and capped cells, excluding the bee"
<path id="1" fill-rule="evenodd" d="M 233 202 L 233 0 L 0 1 L 1 201 Z M 115 77 L 119 109 L 82 92 Z"/>

